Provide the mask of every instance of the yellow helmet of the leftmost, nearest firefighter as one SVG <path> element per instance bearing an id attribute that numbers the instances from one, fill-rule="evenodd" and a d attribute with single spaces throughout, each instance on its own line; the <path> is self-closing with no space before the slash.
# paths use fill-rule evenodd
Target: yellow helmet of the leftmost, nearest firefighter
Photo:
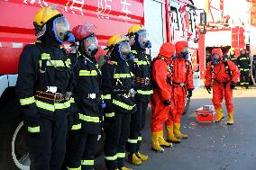
<path id="1" fill-rule="evenodd" d="M 41 26 L 58 14 L 60 13 L 55 6 L 45 6 L 34 15 L 34 22 Z"/>

